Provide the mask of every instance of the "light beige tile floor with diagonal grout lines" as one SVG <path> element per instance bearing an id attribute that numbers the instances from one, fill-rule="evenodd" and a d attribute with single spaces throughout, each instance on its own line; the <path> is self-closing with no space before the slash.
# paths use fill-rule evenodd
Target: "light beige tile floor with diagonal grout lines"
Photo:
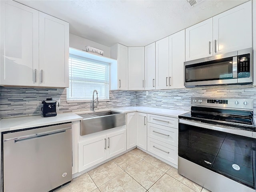
<path id="1" fill-rule="evenodd" d="M 54 192 L 209 192 L 178 170 L 135 148 Z"/>

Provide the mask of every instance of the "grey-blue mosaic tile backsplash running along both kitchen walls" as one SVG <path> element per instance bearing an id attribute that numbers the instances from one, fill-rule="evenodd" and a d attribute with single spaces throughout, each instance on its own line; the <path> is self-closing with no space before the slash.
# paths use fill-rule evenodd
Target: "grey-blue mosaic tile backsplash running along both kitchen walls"
<path id="1" fill-rule="evenodd" d="M 99 108 L 121 106 L 149 106 L 168 109 L 190 110 L 191 96 L 254 99 L 256 116 L 256 87 L 253 86 L 206 86 L 176 90 L 110 91 L 110 101 L 100 102 Z M 66 101 L 65 88 L 0 87 L 0 118 L 41 115 L 42 101 L 59 97 L 57 113 L 90 110 L 91 102 Z"/>

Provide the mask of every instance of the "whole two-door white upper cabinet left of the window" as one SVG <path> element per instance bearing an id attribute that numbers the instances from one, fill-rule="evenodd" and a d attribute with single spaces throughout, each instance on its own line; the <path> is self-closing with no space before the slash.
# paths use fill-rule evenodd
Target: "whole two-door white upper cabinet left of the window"
<path id="1" fill-rule="evenodd" d="M 68 87 L 69 24 L 1 1 L 1 85 Z"/>

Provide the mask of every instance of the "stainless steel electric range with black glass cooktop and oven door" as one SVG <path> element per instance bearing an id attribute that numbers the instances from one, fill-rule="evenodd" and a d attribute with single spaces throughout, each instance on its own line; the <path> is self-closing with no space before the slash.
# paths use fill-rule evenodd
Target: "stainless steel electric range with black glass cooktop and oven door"
<path id="1" fill-rule="evenodd" d="M 213 192 L 255 192 L 253 102 L 191 98 L 179 116 L 178 173 Z"/>

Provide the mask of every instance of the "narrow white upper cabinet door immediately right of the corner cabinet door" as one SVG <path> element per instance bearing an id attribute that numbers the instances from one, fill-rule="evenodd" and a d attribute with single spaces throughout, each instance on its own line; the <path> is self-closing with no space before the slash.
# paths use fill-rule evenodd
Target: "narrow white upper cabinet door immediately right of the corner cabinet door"
<path id="1" fill-rule="evenodd" d="M 156 43 L 145 46 L 145 90 L 156 89 Z"/>

